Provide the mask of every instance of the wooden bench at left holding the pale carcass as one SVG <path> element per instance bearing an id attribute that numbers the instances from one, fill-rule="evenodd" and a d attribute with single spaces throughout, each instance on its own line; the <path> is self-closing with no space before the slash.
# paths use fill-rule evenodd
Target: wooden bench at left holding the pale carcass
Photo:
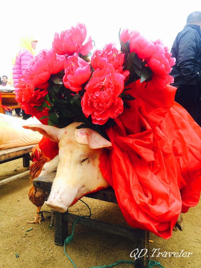
<path id="1" fill-rule="evenodd" d="M 23 158 L 23 167 L 28 168 L 31 160 L 29 153 L 34 145 L 36 144 L 0 150 L 0 164 Z"/>

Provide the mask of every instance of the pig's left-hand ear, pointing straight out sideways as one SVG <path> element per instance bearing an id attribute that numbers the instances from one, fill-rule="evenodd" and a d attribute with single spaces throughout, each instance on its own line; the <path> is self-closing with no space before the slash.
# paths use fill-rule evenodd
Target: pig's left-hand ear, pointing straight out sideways
<path id="1" fill-rule="evenodd" d="M 55 126 L 47 126 L 42 124 L 35 124 L 35 125 L 24 125 L 26 129 L 31 129 L 33 131 L 40 132 L 43 136 L 49 138 L 53 142 L 58 142 L 59 140 L 59 133 L 60 128 Z"/>

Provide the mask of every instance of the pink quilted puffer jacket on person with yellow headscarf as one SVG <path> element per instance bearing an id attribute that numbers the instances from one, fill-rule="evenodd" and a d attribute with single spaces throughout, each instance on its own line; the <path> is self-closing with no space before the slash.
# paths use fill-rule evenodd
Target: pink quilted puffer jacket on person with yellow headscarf
<path id="1" fill-rule="evenodd" d="M 18 92 L 16 86 L 18 84 L 19 78 L 23 75 L 23 71 L 28 66 L 28 62 L 33 58 L 33 55 L 30 51 L 23 49 L 19 52 L 15 60 L 15 65 L 13 66 L 13 82 L 15 87 L 15 92 Z"/>

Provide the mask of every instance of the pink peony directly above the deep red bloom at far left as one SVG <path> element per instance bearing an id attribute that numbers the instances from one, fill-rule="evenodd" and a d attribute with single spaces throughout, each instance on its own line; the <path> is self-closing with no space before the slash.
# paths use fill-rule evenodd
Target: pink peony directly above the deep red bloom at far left
<path id="1" fill-rule="evenodd" d="M 35 56 L 24 70 L 23 80 L 33 85 L 40 85 L 48 81 L 51 74 L 60 72 L 66 62 L 65 56 L 55 53 L 55 50 L 43 50 Z"/>

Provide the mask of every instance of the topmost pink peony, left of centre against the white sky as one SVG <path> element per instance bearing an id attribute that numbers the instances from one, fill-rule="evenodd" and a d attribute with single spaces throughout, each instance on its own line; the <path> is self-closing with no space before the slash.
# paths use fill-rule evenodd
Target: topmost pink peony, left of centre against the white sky
<path id="1" fill-rule="evenodd" d="M 80 52 L 82 55 L 87 55 L 93 48 L 91 37 L 85 45 L 87 29 L 84 24 L 78 23 L 75 27 L 62 31 L 60 35 L 55 33 L 52 47 L 59 55 L 73 55 L 75 52 Z"/>

